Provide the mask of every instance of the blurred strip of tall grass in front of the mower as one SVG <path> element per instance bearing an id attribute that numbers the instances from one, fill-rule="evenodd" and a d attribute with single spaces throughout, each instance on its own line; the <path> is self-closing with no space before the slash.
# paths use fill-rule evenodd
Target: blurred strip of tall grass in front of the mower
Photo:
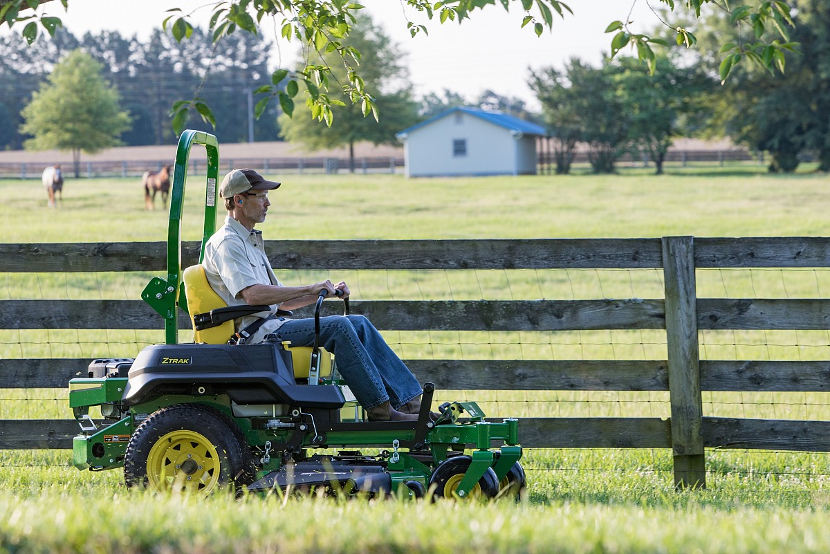
<path id="1" fill-rule="evenodd" d="M 95 490 L 84 479 L 46 485 L 37 494 L 2 485 L 0 552 L 766 554 L 830 548 L 827 512 L 793 502 L 777 484 L 738 479 L 716 490 L 674 493 L 647 475 L 612 474 L 588 486 L 577 476 L 573 488 L 564 475 L 552 479 L 574 494 L 523 505 L 457 505 L 276 494 L 200 499 L 118 486 Z"/>

